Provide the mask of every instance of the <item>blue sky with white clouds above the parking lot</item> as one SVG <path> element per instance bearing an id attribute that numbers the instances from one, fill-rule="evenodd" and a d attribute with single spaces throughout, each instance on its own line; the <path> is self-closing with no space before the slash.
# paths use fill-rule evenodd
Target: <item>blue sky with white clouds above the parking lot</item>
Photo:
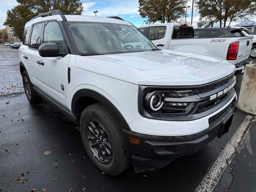
<path id="1" fill-rule="evenodd" d="M 144 19 L 141 18 L 138 12 L 138 0 L 81 0 L 84 6 L 83 15 L 95 15 L 93 11 L 97 10 L 97 16 L 119 16 L 126 21 L 131 22 L 135 26 L 139 27 L 145 25 Z M 18 3 L 16 0 L 0 0 L 0 28 L 5 28 L 2 24 L 6 19 L 6 11 L 12 9 Z M 188 2 L 187 20 L 191 21 L 191 11 L 192 11 L 192 0 Z M 199 14 L 194 7 L 193 14 L 193 26 L 196 28 L 196 23 L 199 20 Z M 256 21 L 256 16 L 252 17 L 250 20 Z M 185 21 L 185 18 L 182 20 Z M 232 25 L 240 23 L 240 20 L 232 22 Z M 232 26 L 231 25 L 231 26 Z"/>

